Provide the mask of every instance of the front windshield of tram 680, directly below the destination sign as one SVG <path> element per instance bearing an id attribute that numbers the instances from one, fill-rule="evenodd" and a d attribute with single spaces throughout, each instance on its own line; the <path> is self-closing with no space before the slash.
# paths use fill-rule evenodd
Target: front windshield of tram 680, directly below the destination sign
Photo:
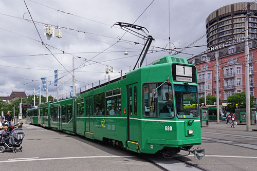
<path id="1" fill-rule="evenodd" d="M 190 85 L 174 85 L 176 114 L 178 118 L 199 117 L 197 87 Z"/>

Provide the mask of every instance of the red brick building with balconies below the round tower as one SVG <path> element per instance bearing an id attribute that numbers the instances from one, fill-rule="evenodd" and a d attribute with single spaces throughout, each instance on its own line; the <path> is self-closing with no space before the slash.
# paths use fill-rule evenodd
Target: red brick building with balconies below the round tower
<path id="1" fill-rule="evenodd" d="M 257 98 L 257 40 L 249 41 L 249 72 L 250 72 L 250 94 Z M 221 46 L 223 47 L 223 46 Z M 199 97 L 207 95 L 216 96 L 216 67 L 215 54 L 218 55 L 218 81 L 219 98 L 226 101 L 227 98 L 237 92 L 245 92 L 245 42 L 230 43 L 221 49 L 209 49 L 203 55 L 194 56 L 188 62 L 197 68 Z M 210 63 L 205 62 L 210 58 Z"/>

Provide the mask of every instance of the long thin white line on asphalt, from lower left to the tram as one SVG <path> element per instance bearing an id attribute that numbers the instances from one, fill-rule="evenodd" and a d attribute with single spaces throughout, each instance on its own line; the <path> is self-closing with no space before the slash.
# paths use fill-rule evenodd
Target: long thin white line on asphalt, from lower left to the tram
<path id="1" fill-rule="evenodd" d="M 25 162 L 25 161 L 40 161 L 40 160 L 64 160 L 64 159 L 86 159 L 86 158 L 128 158 L 136 156 L 81 156 L 81 157 L 58 157 L 58 158 L 43 158 L 43 159 L 19 159 L 19 160 L 4 160 L 0 161 L 0 163 L 9 163 L 9 162 Z"/>

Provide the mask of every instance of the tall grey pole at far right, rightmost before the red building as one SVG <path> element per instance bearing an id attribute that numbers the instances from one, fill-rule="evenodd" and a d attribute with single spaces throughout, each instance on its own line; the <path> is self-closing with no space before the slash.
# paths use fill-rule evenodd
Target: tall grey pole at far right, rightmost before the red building
<path id="1" fill-rule="evenodd" d="M 249 79 L 249 46 L 248 46 L 248 19 L 254 15 L 249 12 L 245 16 L 245 100 L 246 100 L 246 131 L 251 131 L 250 122 L 250 79 Z"/>

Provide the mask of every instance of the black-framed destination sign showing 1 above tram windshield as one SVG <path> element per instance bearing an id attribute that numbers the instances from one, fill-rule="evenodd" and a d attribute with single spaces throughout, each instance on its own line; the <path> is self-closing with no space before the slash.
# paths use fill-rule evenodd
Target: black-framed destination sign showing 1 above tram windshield
<path id="1" fill-rule="evenodd" d="M 195 82 L 195 67 L 190 65 L 172 65 L 173 81 Z"/>

